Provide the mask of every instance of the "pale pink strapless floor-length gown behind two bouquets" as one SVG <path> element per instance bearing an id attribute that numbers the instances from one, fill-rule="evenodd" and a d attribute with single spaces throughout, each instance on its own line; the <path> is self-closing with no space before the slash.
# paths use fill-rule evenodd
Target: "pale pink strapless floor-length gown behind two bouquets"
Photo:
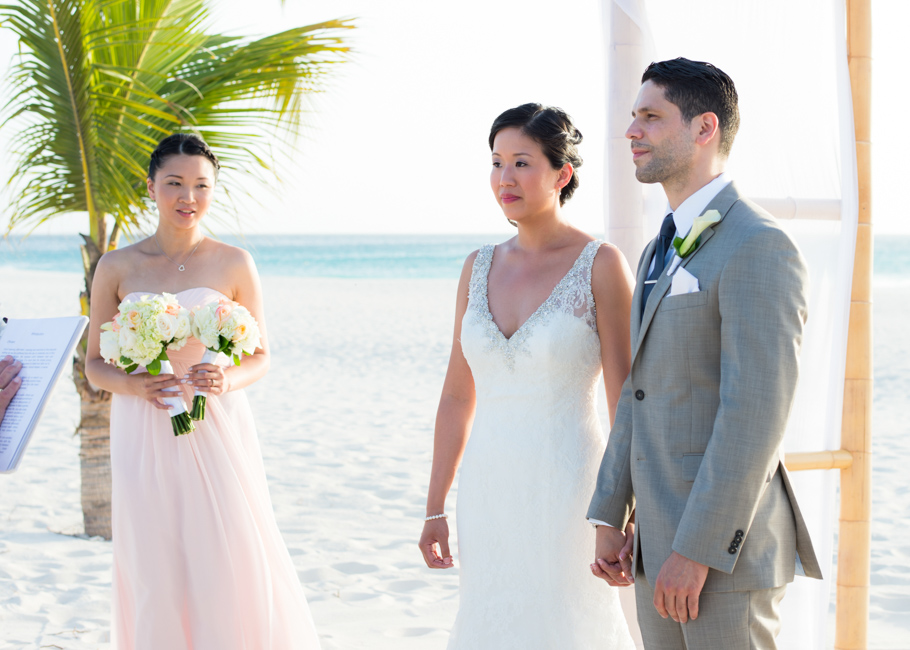
<path id="1" fill-rule="evenodd" d="M 189 308 L 219 298 L 205 288 L 178 294 Z M 168 356 L 180 376 L 202 353 L 190 339 Z M 184 397 L 191 407 L 192 390 Z M 114 395 L 113 647 L 316 650 L 245 393 L 209 396 L 195 424 L 175 437 L 167 411 Z"/>

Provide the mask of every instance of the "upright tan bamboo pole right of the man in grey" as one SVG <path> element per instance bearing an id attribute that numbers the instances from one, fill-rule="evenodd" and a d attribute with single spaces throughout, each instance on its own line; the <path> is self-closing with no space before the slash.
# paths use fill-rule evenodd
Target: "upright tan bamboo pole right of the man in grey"
<path id="1" fill-rule="evenodd" d="M 841 429 L 841 447 L 853 455 L 853 463 L 841 470 L 834 646 L 837 650 L 858 650 L 866 648 L 868 638 L 872 542 L 872 7 L 870 0 L 846 0 L 846 9 L 859 223 Z"/>

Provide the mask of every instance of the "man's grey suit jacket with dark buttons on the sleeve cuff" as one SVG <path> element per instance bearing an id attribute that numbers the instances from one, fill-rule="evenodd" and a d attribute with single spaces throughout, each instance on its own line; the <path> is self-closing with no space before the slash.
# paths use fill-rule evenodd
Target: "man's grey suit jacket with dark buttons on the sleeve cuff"
<path id="1" fill-rule="evenodd" d="M 730 183 L 722 220 L 680 267 L 700 291 L 644 315 L 652 241 L 632 297 L 632 371 L 622 388 L 588 517 L 636 512 L 635 568 L 653 585 L 671 551 L 715 569 L 705 592 L 751 591 L 821 571 L 781 462 L 807 316 L 806 264 L 774 219 Z M 741 532 L 741 535 L 737 535 Z"/>

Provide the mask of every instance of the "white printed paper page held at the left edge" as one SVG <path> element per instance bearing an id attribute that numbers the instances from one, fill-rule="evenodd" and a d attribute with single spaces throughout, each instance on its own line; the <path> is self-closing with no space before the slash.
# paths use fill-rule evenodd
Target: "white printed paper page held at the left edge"
<path id="1" fill-rule="evenodd" d="M 69 363 L 76 329 L 82 332 L 82 316 L 10 320 L 0 337 L 0 358 L 7 355 L 22 362 L 19 392 L 0 423 L 0 472 L 16 464 L 27 435 L 43 409 L 61 363 Z"/>

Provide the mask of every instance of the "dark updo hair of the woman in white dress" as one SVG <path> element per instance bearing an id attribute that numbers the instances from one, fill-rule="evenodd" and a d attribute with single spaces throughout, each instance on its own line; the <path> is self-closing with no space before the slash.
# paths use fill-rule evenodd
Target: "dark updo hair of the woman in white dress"
<path id="1" fill-rule="evenodd" d="M 565 205 L 572 198 L 578 187 L 578 168 L 582 159 L 578 155 L 581 144 L 581 131 L 572 124 L 572 118 L 561 108 L 542 104 L 522 104 L 510 108 L 493 121 L 490 129 L 490 151 L 493 151 L 493 140 L 503 129 L 517 128 L 540 145 L 544 155 L 553 169 L 562 169 L 566 163 L 574 170 L 572 178 L 562 188 L 559 205 Z"/>

